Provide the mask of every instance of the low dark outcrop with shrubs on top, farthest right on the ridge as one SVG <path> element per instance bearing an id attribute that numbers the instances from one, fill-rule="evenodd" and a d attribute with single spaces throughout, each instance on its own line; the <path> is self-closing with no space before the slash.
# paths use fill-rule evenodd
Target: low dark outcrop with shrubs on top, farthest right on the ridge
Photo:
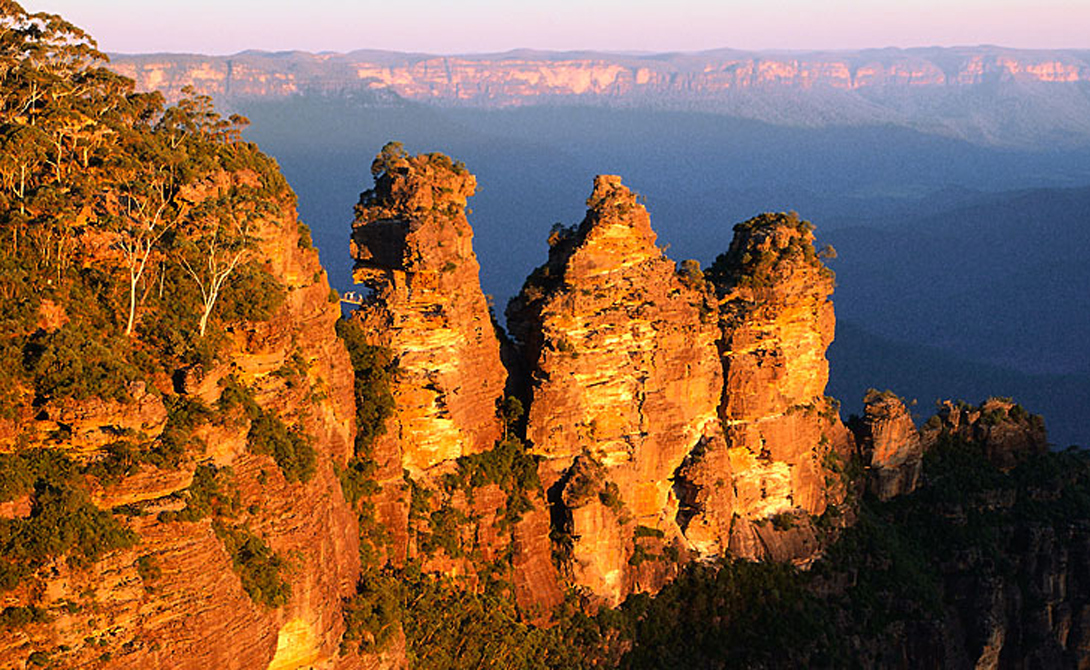
<path id="1" fill-rule="evenodd" d="M 1049 451 L 1044 419 L 1009 398 L 989 398 L 979 407 L 943 401 L 921 435 L 925 450 L 944 437 L 978 443 L 1001 470 L 1010 470 L 1027 456 Z"/>

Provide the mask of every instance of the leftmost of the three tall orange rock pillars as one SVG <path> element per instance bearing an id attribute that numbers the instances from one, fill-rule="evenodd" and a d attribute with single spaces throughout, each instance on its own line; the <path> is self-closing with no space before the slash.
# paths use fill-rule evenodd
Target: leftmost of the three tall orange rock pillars
<path id="1" fill-rule="evenodd" d="M 419 475 L 492 448 L 507 374 L 465 219 L 476 180 L 445 156 L 395 149 L 373 171 L 352 232 L 354 279 L 373 295 L 352 318 L 393 354 L 401 464 Z"/>

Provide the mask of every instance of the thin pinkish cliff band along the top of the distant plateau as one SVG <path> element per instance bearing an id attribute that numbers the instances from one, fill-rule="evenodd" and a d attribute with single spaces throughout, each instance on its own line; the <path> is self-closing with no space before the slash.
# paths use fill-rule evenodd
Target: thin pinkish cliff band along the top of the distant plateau
<path id="1" fill-rule="evenodd" d="M 141 89 L 177 98 L 185 86 L 232 97 L 378 89 L 410 100 L 517 105 L 578 96 L 701 100 L 749 89 L 966 87 L 990 83 L 1090 82 L 1090 51 L 1000 47 L 873 49 L 812 53 L 716 50 L 620 56 L 511 51 L 475 56 L 261 52 L 114 56 Z"/>

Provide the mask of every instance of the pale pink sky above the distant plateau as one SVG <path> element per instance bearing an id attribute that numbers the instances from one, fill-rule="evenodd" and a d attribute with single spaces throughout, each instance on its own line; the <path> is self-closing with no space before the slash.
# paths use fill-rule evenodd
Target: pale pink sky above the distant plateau
<path id="1" fill-rule="evenodd" d="M 114 53 L 1090 48 L 1090 0 L 23 0 Z"/>

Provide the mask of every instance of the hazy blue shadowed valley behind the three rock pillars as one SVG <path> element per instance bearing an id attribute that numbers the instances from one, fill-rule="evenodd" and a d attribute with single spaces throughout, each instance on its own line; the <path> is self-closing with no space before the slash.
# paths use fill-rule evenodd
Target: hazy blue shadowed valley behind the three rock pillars
<path id="1" fill-rule="evenodd" d="M 344 211 L 367 176 L 361 155 L 398 138 L 465 160 L 484 185 L 471 220 L 482 285 L 499 306 L 552 224 L 581 216 L 583 184 L 597 173 L 623 174 L 647 198 L 670 255 L 705 266 L 734 223 L 797 210 L 839 252 L 831 266 L 840 317 L 886 342 L 883 361 L 909 355 L 905 346 L 937 356 L 877 379 L 864 371 L 873 350 L 834 344 L 832 385 L 846 407 L 858 412 L 875 385 L 917 399 L 923 415 L 936 399 L 1013 395 L 1055 417 L 1058 446 L 1087 442 L 1090 278 L 1080 258 L 1090 251 L 1090 149 L 1078 138 L 1017 149 L 891 125 L 806 129 L 559 105 L 449 109 L 362 94 L 234 105 L 300 193 L 326 257 L 347 248 Z M 347 272 L 328 266 L 347 290 Z M 966 374 L 927 383 L 918 374 L 952 364 Z"/>

